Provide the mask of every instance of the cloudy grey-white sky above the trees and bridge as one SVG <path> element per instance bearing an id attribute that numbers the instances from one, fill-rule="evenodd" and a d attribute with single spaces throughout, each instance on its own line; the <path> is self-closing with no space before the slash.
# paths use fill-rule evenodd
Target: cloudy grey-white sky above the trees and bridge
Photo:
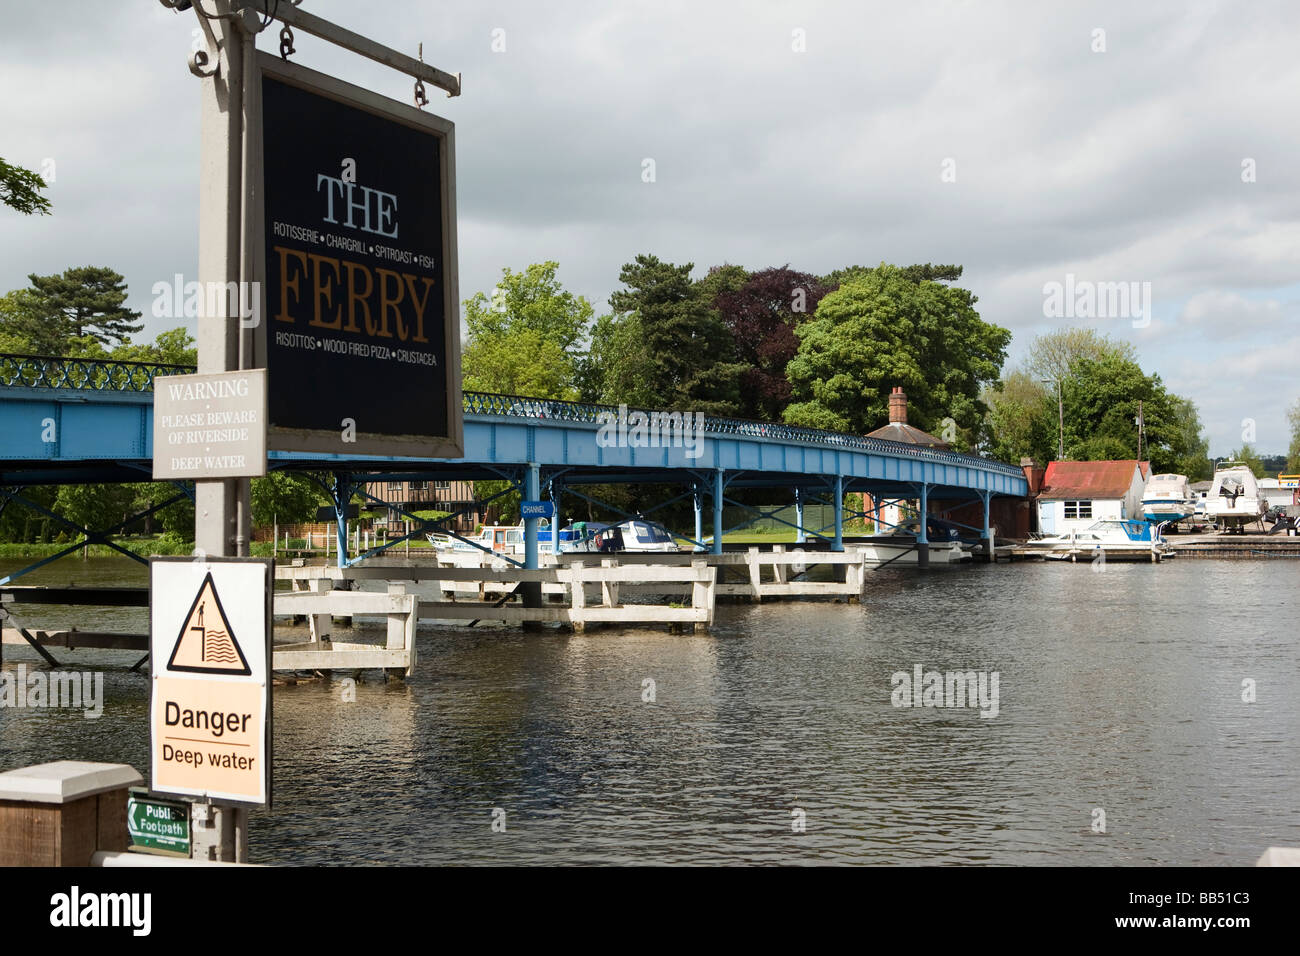
<path id="1" fill-rule="evenodd" d="M 1134 342 L 1201 410 L 1212 454 L 1300 398 L 1300 4 L 306 0 L 464 74 L 460 289 L 555 259 L 598 310 L 637 252 L 827 272 L 966 268 L 983 316 Z M 0 290 L 110 265 L 131 304 L 196 271 L 192 12 L 13 4 L 0 155 L 51 217 L 0 212 Z M 259 39 L 278 49 L 276 31 Z M 495 47 L 495 49 L 494 49 Z M 411 81 L 299 34 L 295 61 L 400 100 Z M 642 181 L 654 160 L 654 182 Z M 1123 315 L 1044 287 L 1138 284 Z M 1149 284 L 1144 286 L 1143 284 Z M 1149 289 L 1149 308 L 1143 308 Z M 1109 303 L 1108 303 L 1109 304 Z M 192 323 L 192 320 L 191 320 Z M 174 321 L 150 320 L 152 336 Z"/>

